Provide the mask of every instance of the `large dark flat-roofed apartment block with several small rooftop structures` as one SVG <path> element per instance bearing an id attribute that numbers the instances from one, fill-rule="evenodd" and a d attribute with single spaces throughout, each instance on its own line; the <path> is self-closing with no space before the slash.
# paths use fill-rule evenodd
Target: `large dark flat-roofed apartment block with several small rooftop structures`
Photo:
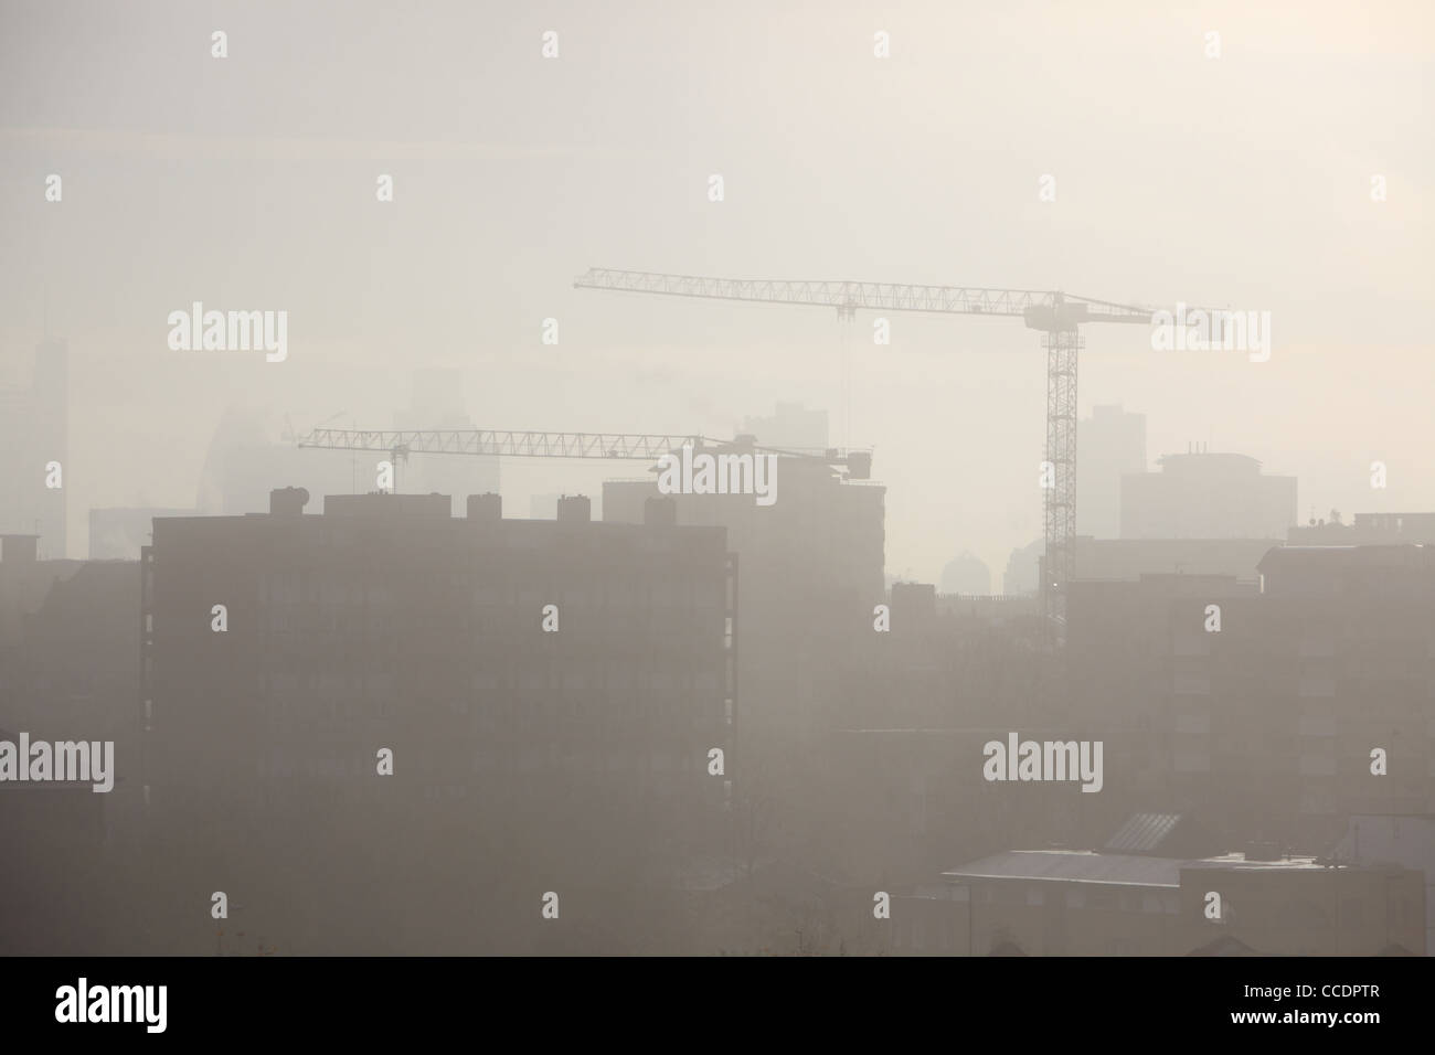
<path id="1" fill-rule="evenodd" d="M 545 891 L 577 914 L 580 890 L 722 844 L 720 528 L 591 522 L 585 498 L 555 521 L 504 520 L 498 495 L 466 518 L 448 495 L 306 501 L 155 521 L 142 670 L 166 897 L 227 877 L 251 932 L 290 949 L 524 950 Z"/>

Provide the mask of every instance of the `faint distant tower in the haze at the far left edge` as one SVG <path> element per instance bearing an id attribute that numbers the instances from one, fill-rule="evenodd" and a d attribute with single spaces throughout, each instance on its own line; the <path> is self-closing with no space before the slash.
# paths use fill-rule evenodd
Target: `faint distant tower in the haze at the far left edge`
<path id="1" fill-rule="evenodd" d="M 39 535 L 52 560 L 66 555 L 69 360 L 63 340 L 43 340 L 30 386 L 0 389 L 0 531 Z"/>

